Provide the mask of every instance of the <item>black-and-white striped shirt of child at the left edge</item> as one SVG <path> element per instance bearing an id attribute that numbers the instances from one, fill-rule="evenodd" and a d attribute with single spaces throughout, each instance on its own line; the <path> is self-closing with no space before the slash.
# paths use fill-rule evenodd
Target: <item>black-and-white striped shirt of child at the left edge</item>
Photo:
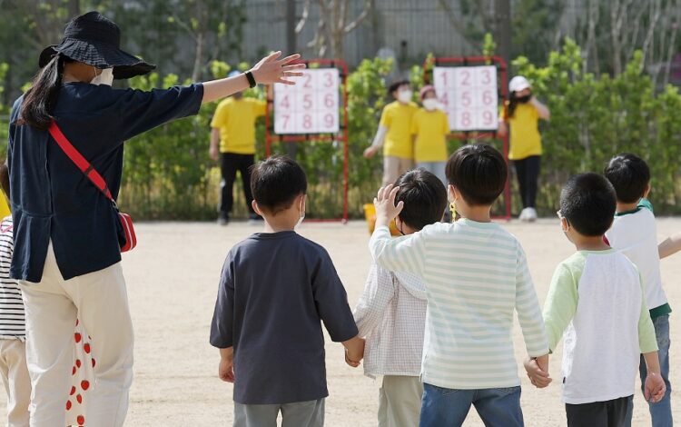
<path id="1" fill-rule="evenodd" d="M 12 217 L 0 223 L 0 339 L 25 339 L 24 302 L 21 290 L 14 279 L 9 278 L 12 264 L 14 239 Z"/>

